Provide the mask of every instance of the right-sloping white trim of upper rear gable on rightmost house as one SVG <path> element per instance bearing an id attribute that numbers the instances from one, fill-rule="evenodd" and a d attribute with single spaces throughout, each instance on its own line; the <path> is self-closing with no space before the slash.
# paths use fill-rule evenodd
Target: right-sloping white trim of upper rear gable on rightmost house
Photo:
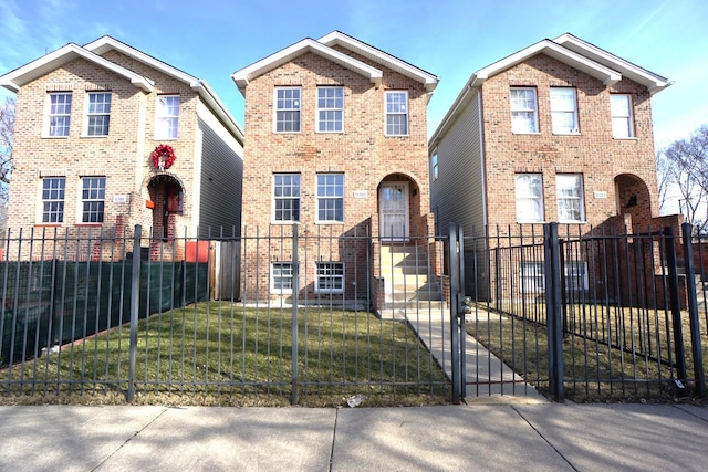
<path id="1" fill-rule="evenodd" d="M 638 65 L 625 61 L 622 57 L 617 57 L 616 55 L 608 53 L 594 44 L 585 42 L 580 38 L 575 38 L 570 33 L 561 34 L 554 39 L 553 42 L 600 64 L 620 71 L 625 77 L 644 85 L 649 91 L 650 95 L 654 95 L 673 84 L 673 82 L 666 77 L 639 67 Z"/>

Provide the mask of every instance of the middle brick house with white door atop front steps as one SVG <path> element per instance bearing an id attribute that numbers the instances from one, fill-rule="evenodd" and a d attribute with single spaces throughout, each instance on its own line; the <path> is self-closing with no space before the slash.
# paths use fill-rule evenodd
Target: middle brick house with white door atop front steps
<path id="1" fill-rule="evenodd" d="M 299 275 L 291 248 L 272 238 L 250 250 L 260 258 L 244 253 L 243 296 L 284 300 L 295 290 L 301 300 L 371 297 L 382 310 L 393 306 L 394 279 L 418 296 L 435 275 L 426 108 L 438 78 L 339 31 L 232 78 L 246 99 L 247 250 L 249 237 L 294 228 L 301 243 Z M 415 287 L 391 273 L 410 251 L 421 255 Z"/>

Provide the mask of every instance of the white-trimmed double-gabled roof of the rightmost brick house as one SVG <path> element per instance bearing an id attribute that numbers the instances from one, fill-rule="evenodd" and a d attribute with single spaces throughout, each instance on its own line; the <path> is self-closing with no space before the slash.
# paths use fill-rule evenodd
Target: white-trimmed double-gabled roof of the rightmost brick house
<path id="1" fill-rule="evenodd" d="M 457 96 L 452 106 L 440 122 L 440 125 L 429 140 L 430 148 L 437 145 L 440 136 L 446 132 L 450 123 L 459 116 L 465 106 L 489 77 L 492 77 L 523 61 L 537 55 L 546 54 L 560 62 L 582 71 L 610 87 L 623 77 L 627 77 L 647 88 L 649 94 L 655 94 L 670 86 L 673 82 L 654 74 L 638 65 L 632 64 L 614 54 L 611 54 L 593 44 L 590 44 L 570 33 L 562 34 L 555 40 L 542 40 L 519 52 L 516 52 L 500 61 L 480 69 L 467 81 L 465 87 Z"/>

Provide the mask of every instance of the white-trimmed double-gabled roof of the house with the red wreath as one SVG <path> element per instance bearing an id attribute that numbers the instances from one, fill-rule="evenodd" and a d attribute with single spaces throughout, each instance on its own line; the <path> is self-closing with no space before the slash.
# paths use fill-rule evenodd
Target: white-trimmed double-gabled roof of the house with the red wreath
<path id="1" fill-rule="evenodd" d="M 56 51 L 43 55 L 29 64 L 0 76 L 0 85 L 17 93 L 21 86 L 75 59 L 81 57 L 129 80 L 133 85 L 144 92 L 153 92 L 155 81 L 103 57 L 106 52 L 112 50 L 116 50 L 122 54 L 160 71 L 170 77 L 189 84 L 189 86 L 199 94 L 199 97 L 205 101 L 205 104 L 222 120 L 223 125 L 237 137 L 237 140 L 243 144 L 243 130 L 206 81 L 187 74 L 186 72 L 173 67 L 169 64 L 166 64 L 107 35 L 98 38 L 84 46 L 69 43 Z"/>

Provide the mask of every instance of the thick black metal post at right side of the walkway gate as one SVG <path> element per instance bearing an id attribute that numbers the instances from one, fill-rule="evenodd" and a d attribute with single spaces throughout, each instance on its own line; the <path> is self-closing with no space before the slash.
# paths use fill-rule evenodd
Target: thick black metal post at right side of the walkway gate
<path id="1" fill-rule="evenodd" d="M 563 391 L 563 319 L 561 301 L 561 251 L 558 223 L 543 225 L 545 252 L 545 316 L 549 331 L 549 390 L 551 397 L 562 403 Z"/>

